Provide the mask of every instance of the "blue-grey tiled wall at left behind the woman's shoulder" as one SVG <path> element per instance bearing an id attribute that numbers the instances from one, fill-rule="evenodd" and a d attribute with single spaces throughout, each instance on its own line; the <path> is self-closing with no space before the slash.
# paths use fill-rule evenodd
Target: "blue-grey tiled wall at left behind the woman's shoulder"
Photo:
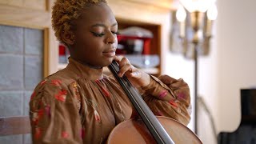
<path id="1" fill-rule="evenodd" d="M 29 114 L 30 95 L 42 79 L 42 54 L 42 30 L 0 25 L 0 117 Z M 31 138 L 4 136 L 0 143 L 31 143 Z"/>

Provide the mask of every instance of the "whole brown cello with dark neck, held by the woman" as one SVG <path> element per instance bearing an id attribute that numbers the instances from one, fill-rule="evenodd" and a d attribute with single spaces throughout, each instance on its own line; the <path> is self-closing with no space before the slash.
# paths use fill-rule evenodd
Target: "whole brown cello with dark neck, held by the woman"
<path id="1" fill-rule="evenodd" d="M 128 78 L 118 77 L 119 66 L 113 61 L 109 70 L 114 75 L 122 89 L 137 110 L 140 118 L 132 118 L 115 126 L 110 132 L 107 144 L 125 143 L 158 143 L 158 144 L 200 144 L 201 140 L 182 123 L 173 118 L 155 116 L 142 96 L 131 85 Z"/>

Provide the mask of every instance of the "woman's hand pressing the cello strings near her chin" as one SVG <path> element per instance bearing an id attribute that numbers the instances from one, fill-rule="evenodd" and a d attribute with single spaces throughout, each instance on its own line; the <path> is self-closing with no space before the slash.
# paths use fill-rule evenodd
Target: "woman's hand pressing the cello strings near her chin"
<path id="1" fill-rule="evenodd" d="M 115 56 L 114 60 L 119 64 L 120 70 L 118 76 L 120 78 L 123 75 L 126 75 L 135 87 L 147 86 L 150 84 L 150 75 L 131 65 L 127 58 Z"/>

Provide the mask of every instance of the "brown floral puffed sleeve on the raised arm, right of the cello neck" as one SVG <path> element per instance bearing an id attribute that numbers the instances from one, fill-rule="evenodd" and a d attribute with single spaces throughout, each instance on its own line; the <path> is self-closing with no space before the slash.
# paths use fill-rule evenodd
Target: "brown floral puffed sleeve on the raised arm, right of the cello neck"
<path id="1" fill-rule="evenodd" d="M 190 122 L 190 89 L 182 78 L 151 76 L 150 84 L 142 90 L 143 99 L 155 115 L 174 118 L 184 125 Z"/>

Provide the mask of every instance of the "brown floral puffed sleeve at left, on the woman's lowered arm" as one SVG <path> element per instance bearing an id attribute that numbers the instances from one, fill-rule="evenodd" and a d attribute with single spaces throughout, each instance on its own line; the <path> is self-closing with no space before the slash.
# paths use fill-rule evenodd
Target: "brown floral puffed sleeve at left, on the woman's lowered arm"
<path id="1" fill-rule="evenodd" d="M 61 80 L 38 84 L 30 98 L 33 143 L 82 143 L 78 106 Z"/>

